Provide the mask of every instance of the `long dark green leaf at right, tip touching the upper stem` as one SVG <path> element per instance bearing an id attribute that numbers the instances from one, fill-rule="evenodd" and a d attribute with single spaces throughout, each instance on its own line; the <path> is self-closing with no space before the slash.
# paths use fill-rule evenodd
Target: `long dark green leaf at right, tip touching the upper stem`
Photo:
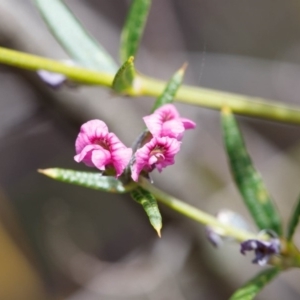
<path id="1" fill-rule="evenodd" d="M 272 229 L 280 235 L 279 213 L 252 164 L 236 119 L 228 107 L 222 110 L 222 128 L 232 175 L 253 219 L 260 229 Z"/>

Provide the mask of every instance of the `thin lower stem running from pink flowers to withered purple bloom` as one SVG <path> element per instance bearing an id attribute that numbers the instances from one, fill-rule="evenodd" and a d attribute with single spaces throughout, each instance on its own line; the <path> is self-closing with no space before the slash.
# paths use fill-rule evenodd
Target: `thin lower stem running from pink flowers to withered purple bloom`
<path id="1" fill-rule="evenodd" d="M 139 185 L 153 194 L 158 201 L 179 212 L 180 214 L 185 215 L 186 217 L 204 225 L 221 228 L 224 231 L 224 236 L 233 237 L 239 242 L 249 239 L 257 239 L 257 236 L 254 233 L 221 223 L 215 217 L 161 191 L 143 177 L 140 177 Z"/>

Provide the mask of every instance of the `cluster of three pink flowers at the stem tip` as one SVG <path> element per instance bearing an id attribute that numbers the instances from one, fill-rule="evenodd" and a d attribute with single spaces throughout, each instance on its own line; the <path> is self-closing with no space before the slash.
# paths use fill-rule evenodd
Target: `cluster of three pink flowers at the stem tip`
<path id="1" fill-rule="evenodd" d="M 180 150 L 181 139 L 186 129 L 195 128 L 196 124 L 181 118 L 175 106 L 166 104 L 153 114 L 143 118 L 150 133 L 150 139 L 142 144 L 133 154 L 114 133 L 108 131 L 100 120 L 91 120 L 83 124 L 76 139 L 74 159 L 89 167 L 104 171 L 113 167 L 116 177 L 120 176 L 132 161 L 131 177 L 138 181 L 141 172 L 151 172 L 174 164 L 174 157 Z"/>

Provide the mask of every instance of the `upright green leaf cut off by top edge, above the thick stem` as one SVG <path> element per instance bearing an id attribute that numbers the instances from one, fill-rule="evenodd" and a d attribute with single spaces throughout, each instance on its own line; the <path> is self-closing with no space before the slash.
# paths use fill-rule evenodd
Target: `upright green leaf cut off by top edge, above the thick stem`
<path id="1" fill-rule="evenodd" d="M 132 0 L 121 34 L 121 62 L 126 61 L 130 56 L 136 55 L 144 32 L 150 5 L 151 0 Z"/>

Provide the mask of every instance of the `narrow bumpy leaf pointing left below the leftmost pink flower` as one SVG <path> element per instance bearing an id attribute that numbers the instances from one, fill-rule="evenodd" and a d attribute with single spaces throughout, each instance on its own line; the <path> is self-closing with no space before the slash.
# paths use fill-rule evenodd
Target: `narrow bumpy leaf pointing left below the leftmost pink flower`
<path id="1" fill-rule="evenodd" d="M 136 184 L 133 182 L 124 185 L 115 177 L 102 176 L 100 173 L 81 172 L 59 168 L 44 169 L 38 171 L 58 181 L 109 193 L 127 193 L 136 187 Z"/>

